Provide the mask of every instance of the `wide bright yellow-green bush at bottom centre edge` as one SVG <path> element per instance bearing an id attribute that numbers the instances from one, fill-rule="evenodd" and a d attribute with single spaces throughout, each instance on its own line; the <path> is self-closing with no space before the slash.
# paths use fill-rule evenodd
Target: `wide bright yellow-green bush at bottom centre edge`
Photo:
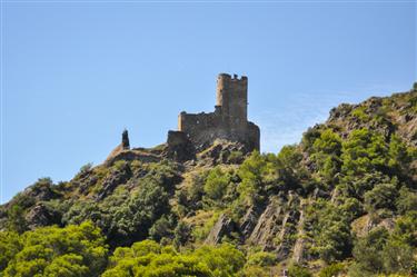
<path id="1" fill-rule="evenodd" d="M 230 245 L 203 246 L 187 254 L 162 248 L 151 240 L 115 250 L 103 277 L 112 276 L 234 276 L 245 263 L 244 255 Z"/>

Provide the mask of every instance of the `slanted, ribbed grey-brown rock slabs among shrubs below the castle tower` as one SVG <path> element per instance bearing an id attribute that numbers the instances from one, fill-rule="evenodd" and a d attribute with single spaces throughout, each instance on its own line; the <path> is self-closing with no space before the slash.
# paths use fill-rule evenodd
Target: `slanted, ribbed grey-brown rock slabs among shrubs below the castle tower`
<path id="1" fill-rule="evenodd" d="M 239 226 L 221 215 L 206 243 L 219 244 L 224 236 L 235 231 L 240 234 L 241 241 L 275 253 L 278 260 L 292 256 L 297 261 L 301 261 L 305 248 L 302 207 L 298 197 L 289 194 L 288 199 L 274 197 L 264 209 L 250 207 Z M 298 234 L 299 238 L 295 239 L 294 234 Z"/>

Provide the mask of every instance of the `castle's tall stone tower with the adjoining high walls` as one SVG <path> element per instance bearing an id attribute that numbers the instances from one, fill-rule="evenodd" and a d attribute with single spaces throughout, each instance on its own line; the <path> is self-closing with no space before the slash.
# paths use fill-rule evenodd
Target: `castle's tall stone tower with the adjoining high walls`
<path id="1" fill-rule="evenodd" d="M 202 149 L 216 139 L 238 141 L 247 150 L 259 150 L 259 127 L 248 121 L 248 78 L 220 73 L 217 78 L 215 111 L 178 117 L 178 130 L 196 148 Z"/>

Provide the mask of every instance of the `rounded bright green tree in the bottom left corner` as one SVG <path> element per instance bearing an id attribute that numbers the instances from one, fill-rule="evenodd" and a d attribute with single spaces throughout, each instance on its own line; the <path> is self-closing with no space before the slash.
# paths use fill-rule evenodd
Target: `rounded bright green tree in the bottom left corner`
<path id="1" fill-rule="evenodd" d="M 66 228 L 43 227 L 21 235 L 21 247 L 3 276 L 99 276 L 107 263 L 107 246 L 91 222 Z"/>

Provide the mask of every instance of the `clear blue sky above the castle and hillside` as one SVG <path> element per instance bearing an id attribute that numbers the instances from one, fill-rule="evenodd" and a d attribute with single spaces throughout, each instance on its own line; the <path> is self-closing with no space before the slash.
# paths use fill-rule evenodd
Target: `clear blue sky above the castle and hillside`
<path id="1" fill-rule="evenodd" d="M 2 1 L 1 201 L 212 111 L 220 72 L 249 78 L 261 150 L 331 107 L 410 89 L 414 1 Z"/>

